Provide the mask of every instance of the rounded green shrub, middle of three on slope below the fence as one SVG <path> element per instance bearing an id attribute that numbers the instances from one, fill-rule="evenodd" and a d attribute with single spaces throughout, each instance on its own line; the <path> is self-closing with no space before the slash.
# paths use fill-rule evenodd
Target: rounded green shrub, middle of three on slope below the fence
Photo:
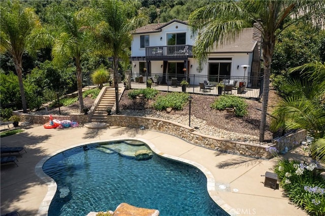
<path id="1" fill-rule="evenodd" d="M 155 110 L 165 110 L 168 107 L 172 107 L 174 110 L 182 110 L 187 102 L 188 93 L 172 92 L 166 94 L 166 96 L 158 96 L 153 103 Z"/>

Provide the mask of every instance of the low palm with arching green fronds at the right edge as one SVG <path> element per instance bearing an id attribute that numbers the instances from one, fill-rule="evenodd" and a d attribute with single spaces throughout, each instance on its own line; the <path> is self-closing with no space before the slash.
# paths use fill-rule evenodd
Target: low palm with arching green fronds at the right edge
<path id="1" fill-rule="evenodd" d="M 271 128 L 305 129 L 314 137 L 312 157 L 325 162 L 325 64 L 308 63 L 290 71 L 297 70 L 301 71 L 302 79 L 285 85 L 290 95 L 281 98 L 274 107 L 272 115 L 277 118 Z"/>

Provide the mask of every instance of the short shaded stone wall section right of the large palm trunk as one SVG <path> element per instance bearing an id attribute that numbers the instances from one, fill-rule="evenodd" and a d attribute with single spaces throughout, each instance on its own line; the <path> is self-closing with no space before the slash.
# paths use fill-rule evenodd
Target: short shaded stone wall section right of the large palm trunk
<path id="1" fill-rule="evenodd" d="M 278 150 L 282 152 L 284 147 L 294 149 L 297 146 L 300 146 L 300 143 L 305 140 L 306 135 L 307 131 L 301 129 L 275 138 L 273 142 L 276 143 Z"/>

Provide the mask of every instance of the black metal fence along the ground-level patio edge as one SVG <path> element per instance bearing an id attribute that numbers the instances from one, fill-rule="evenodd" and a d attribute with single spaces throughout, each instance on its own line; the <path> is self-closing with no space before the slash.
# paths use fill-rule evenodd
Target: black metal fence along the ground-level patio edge
<path id="1" fill-rule="evenodd" d="M 175 75 L 175 74 L 151 74 L 141 76 L 133 73 L 131 88 L 151 88 L 174 92 L 186 91 L 189 93 L 220 95 L 232 94 L 245 98 L 259 98 L 263 90 L 263 77 L 239 77 L 239 76 L 207 76 L 207 75 Z M 182 88 L 181 82 L 185 80 L 189 85 Z M 219 87 L 218 87 L 219 86 Z"/>

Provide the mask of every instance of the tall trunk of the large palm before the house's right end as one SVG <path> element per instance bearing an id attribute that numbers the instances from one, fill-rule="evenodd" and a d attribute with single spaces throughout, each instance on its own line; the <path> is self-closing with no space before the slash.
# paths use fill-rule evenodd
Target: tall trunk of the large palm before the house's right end
<path id="1" fill-rule="evenodd" d="M 262 43 L 263 60 L 264 60 L 264 81 L 263 81 L 263 96 L 262 96 L 262 114 L 261 125 L 259 126 L 259 141 L 264 141 L 266 116 L 268 110 L 269 90 L 270 90 L 270 74 L 271 62 L 274 49 L 274 40 L 271 37 Z"/>

